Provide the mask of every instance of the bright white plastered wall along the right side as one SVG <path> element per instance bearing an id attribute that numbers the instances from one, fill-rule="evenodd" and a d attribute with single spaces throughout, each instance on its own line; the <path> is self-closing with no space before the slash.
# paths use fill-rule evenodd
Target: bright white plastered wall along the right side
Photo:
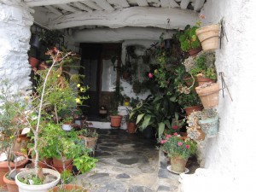
<path id="1" fill-rule="evenodd" d="M 182 175 L 184 192 L 256 191 L 254 162 L 256 133 L 253 119 L 255 92 L 256 2 L 253 0 L 207 0 L 201 13 L 203 26 L 224 19 L 229 42 L 222 38 L 216 50 L 216 67 L 224 72 L 233 102 L 227 90 L 219 93 L 218 137 L 206 141 L 205 169 L 194 175 Z M 218 82 L 220 79 L 218 77 Z"/>

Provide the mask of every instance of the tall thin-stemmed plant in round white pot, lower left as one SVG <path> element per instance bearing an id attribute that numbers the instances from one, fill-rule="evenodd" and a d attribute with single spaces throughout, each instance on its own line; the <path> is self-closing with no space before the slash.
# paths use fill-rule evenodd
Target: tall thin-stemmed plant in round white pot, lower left
<path id="1" fill-rule="evenodd" d="M 40 152 L 40 150 L 38 150 L 40 147 L 38 143 L 42 142 L 42 135 L 40 133 L 44 125 L 48 125 L 48 129 L 58 127 L 56 133 L 61 134 L 63 130 L 59 124 L 60 119 L 58 118 L 58 113 L 61 109 L 70 107 L 67 105 L 70 102 L 81 103 L 81 100 L 84 99 L 83 97 L 79 97 L 70 87 L 70 83 L 64 75 L 63 64 L 66 59 L 68 60 L 73 55 L 72 52 L 64 53 L 53 48 L 47 52 L 47 55 L 50 55 L 52 63 L 48 69 L 38 72 L 39 79 L 36 93 L 32 95 L 33 97 L 30 100 L 30 108 L 32 108 L 30 115 L 35 116 L 34 119 L 30 119 L 30 128 L 33 132 L 34 141 L 33 152 L 35 153 L 35 168 L 20 172 L 15 176 L 15 182 L 20 191 L 47 191 L 59 182 L 61 177 L 59 172 L 46 168 L 38 169 Z M 81 90 L 82 87 L 79 89 Z M 44 129 L 44 131 L 46 130 Z M 64 132 L 66 133 L 66 131 Z M 87 160 L 88 157 L 85 154 L 82 156 L 79 154 L 79 158 Z M 84 163 L 84 160 L 81 161 Z M 79 163 L 77 163 L 77 166 L 80 166 Z M 49 175 L 51 175 L 53 179 L 47 179 Z M 32 182 L 28 182 L 31 180 Z"/>

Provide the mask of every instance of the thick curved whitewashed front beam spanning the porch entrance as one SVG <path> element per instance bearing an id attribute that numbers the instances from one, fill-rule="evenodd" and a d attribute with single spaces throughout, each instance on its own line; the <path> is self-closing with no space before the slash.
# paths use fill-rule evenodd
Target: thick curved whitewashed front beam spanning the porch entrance
<path id="1" fill-rule="evenodd" d="M 171 29 L 183 28 L 187 24 L 194 25 L 198 14 L 191 10 L 172 8 L 130 7 L 92 13 L 76 13 L 65 15 L 49 21 L 49 28 L 63 29 L 74 26 L 108 26 L 119 28 L 124 26 L 154 26 L 166 28 L 166 19 L 170 18 Z"/>

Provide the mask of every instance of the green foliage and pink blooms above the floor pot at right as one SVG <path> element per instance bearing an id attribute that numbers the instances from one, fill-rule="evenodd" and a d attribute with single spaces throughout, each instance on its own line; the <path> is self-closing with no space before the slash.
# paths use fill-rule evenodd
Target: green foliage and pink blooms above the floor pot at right
<path id="1" fill-rule="evenodd" d="M 196 143 L 190 139 L 183 140 L 177 132 L 173 135 L 166 135 L 160 143 L 163 144 L 163 148 L 167 151 L 169 157 L 181 157 L 188 160 L 189 156 L 196 152 Z"/>

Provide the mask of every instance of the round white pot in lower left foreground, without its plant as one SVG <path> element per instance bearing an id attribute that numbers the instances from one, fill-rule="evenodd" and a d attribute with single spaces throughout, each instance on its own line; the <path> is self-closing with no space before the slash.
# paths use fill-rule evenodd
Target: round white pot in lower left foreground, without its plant
<path id="1" fill-rule="evenodd" d="M 35 169 L 25 170 L 23 172 L 19 172 L 16 175 L 15 182 L 18 185 L 19 192 L 47 192 L 49 189 L 53 188 L 57 183 L 59 183 L 59 181 L 61 179 L 61 174 L 59 172 L 56 172 L 55 170 L 52 170 L 52 169 L 43 168 L 44 173 L 49 173 L 49 174 L 57 177 L 54 182 L 40 184 L 40 185 L 29 185 L 26 183 L 21 183 L 18 180 L 18 177 L 23 177 L 24 175 L 30 174 L 32 172 L 35 172 Z"/>

